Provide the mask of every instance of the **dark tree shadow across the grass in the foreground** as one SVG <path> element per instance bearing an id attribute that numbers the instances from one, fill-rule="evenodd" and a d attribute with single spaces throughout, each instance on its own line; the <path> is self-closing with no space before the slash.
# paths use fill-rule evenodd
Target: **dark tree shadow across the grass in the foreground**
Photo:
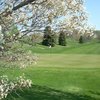
<path id="1" fill-rule="evenodd" d="M 95 100 L 87 95 L 71 94 L 33 85 L 30 89 L 13 91 L 5 100 Z"/>

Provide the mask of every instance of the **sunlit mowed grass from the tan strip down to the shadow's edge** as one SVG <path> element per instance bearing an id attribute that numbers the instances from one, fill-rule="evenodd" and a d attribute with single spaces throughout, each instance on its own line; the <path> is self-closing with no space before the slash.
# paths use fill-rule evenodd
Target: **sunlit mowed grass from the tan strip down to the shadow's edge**
<path id="1" fill-rule="evenodd" d="M 46 86 L 54 90 L 78 95 L 84 94 L 96 98 L 96 100 L 100 100 L 100 55 L 37 54 L 37 56 L 37 64 L 33 64 L 25 69 L 1 68 L 0 75 L 8 75 L 11 79 L 14 79 L 14 77 L 25 73 L 25 76 L 31 79 L 36 86 Z M 34 91 L 34 88 L 32 91 Z M 45 93 L 47 92 L 46 90 Z M 33 94 L 32 98 L 34 98 L 35 95 L 36 94 Z M 34 100 L 32 98 L 25 100 Z M 24 99 L 19 97 L 18 100 Z M 52 97 L 52 99 L 42 98 L 35 100 L 67 99 L 63 99 L 62 95 L 61 99 L 54 99 L 54 97 Z M 92 99 L 75 99 L 73 96 L 72 99 L 68 100 Z"/>

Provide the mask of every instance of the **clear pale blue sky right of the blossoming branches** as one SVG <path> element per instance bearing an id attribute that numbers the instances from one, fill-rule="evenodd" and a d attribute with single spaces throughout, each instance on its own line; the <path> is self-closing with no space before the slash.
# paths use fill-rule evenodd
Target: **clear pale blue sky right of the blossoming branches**
<path id="1" fill-rule="evenodd" d="M 85 0 L 85 6 L 89 13 L 89 23 L 100 30 L 100 0 Z"/>

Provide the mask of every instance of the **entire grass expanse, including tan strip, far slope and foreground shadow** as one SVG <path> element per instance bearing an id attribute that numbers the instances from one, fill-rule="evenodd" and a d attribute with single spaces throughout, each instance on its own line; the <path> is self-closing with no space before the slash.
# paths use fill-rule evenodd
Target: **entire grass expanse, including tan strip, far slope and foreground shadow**
<path id="1" fill-rule="evenodd" d="M 100 43 L 48 48 L 24 45 L 38 56 L 25 69 L 0 68 L 10 79 L 22 75 L 33 81 L 31 89 L 12 92 L 6 100 L 100 100 Z"/>

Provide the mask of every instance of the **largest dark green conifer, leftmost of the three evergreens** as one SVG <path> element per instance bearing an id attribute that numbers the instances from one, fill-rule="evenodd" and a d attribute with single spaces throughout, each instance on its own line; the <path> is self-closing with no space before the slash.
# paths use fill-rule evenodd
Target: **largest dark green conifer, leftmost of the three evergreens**
<path id="1" fill-rule="evenodd" d="M 56 44 L 56 35 L 55 33 L 51 30 L 50 26 L 47 26 L 44 30 L 44 37 L 42 44 L 45 46 L 51 46 L 54 47 Z"/>

